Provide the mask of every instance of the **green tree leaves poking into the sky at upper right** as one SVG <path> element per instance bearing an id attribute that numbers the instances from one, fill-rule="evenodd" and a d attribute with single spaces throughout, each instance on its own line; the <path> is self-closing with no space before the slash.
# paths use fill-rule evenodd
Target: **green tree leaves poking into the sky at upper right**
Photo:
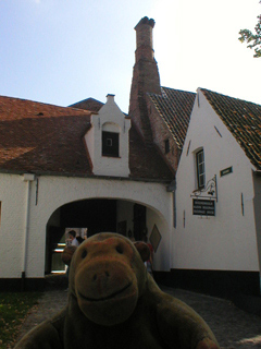
<path id="1" fill-rule="evenodd" d="M 260 1 L 261 3 L 261 1 Z M 253 57 L 259 58 L 261 57 L 261 14 L 258 16 L 258 23 L 254 27 L 254 32 L 252 33 L 249 29 L 241 29 L 239 32 L 240 37 L 238 38 L 239 41 L 249 44 L 248 48 L 254 48 Z"/>

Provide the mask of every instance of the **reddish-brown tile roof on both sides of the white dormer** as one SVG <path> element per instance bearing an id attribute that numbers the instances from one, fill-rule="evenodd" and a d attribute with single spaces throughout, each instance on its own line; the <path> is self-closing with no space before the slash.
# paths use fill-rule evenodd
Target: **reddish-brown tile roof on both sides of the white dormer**
<path id="1" fill-rule="evenodd" d="M 88 110 L 0 96 L 0 171 L 94 176 L 84 142 L 89 121 Z M 134 129 L 129 135 L 130 178 L 171 180 L 157 151 Z"/>

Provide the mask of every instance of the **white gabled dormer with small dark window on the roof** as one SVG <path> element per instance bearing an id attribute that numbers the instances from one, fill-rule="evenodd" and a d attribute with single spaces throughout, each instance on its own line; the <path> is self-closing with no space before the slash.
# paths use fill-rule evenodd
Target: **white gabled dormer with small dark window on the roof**
<path id="1" fill-rule="evenodd" d="M 128 177 L 130 120 L 115 104 L 114 95 L 107 96 L 104 106 L 97 115 L 91 115 L 90 123 L 85 142 L 94 174 Z"/>

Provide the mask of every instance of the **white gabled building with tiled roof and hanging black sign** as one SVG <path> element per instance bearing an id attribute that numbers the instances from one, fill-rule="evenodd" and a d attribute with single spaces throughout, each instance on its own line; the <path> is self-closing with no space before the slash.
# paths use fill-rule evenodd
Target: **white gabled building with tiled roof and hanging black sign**
<path id="1" fill-rule="evenodd" d="M 261 106 L 198 88 L 176 173 L 172 244 L 173 268 L 192 275 L 198 289 L 208 279 L 226 293 L 234 282 L 258 292 L 260 120 Z"/>

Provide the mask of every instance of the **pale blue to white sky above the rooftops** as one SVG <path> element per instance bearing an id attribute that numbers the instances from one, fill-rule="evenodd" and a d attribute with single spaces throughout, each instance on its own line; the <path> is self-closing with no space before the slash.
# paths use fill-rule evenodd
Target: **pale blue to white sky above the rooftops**
<path id="1" fill-rule="evenodd" d="M 258 0 L 0 0 L 0 95 L 67 106 L 110 93 L 127 112 L 147 15 L 162 86 L 261 104 L 261 59 L 238 41 L 260 13 Z"/>

